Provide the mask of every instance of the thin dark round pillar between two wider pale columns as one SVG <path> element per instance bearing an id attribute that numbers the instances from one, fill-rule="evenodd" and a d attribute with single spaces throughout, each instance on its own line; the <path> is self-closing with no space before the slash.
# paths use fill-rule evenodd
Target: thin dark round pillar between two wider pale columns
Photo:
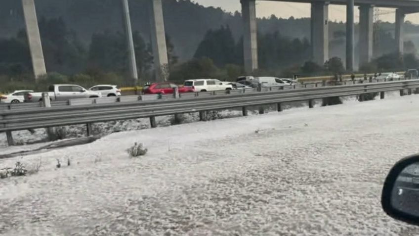
<path id="1" fill-rule="evenodd" d="M 346 4 L 346 70 L 353 71 L 354 64 L 354 0 Z"/>

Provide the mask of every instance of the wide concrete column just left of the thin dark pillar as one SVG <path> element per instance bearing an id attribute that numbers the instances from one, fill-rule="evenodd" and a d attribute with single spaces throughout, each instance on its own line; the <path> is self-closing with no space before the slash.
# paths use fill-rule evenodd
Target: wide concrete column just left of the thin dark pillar
<path id="1" fill-rule="evenodd" d="M 329 4 L 311 3 L 311 47 L 313 62 L 323 65 L 329 59 Z"/>

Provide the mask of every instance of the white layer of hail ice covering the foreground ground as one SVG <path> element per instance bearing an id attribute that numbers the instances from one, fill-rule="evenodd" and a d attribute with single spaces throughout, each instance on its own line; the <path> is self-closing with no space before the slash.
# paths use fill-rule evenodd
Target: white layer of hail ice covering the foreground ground
<path id="1" fill-rule="evenodd" d="M 419 96 L 140 131 L 25 156 L 0 180 L 0 234 L 414 236 L 380 208 L 418 152 Z M 126 148 L 143 142 L 146 156 Z M 71 165 L 55 167 L 71 160 Z M 0 160 L 0 168 L 20 158 Z"/>

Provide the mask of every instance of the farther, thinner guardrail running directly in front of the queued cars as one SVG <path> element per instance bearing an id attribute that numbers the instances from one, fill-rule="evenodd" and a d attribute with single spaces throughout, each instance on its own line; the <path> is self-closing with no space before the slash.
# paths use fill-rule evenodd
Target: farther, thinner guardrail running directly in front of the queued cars
<path id="1" fill-rule="evenodd" d="M 402 80 L 402 79 L 398 79 Z M 354 84 L 365 84 L 365 83 L 377 83 L 377 82 L 386 82 L 386 79 L 373 79 L 372 81 L 365 81 L 365 80 L 348 80 L 342 82 L 329 82 L 325 83 L 304 83 L 304 84 L 295 84 L 292 86 L 278 86 L 278 87 L 262 87 L 262 92 L 266 91 L 275 91 L 275 90 L 296 90 L 296 89 L 306 89 L 306 88 L 318 88 L 324 86 L 331 86 L 335 85 L 334 83 L 338 83 L 339 85 L 354 85 Z M 331 84 L 332 83 L 332 84 Z M 188 98 L 188 97 L 202 97 L 202 96 L 222 96 L 225 94 L 251 94 L 257 93 L 257 89 L 246 89 L 246 90 L 231 90 L 231 91 L 212 91 L 212 92 L 196 92 L 196 93 L 185 93 L 179 94 L 181 98 Z M 87 104 L 102 104 L 102 103 L 115 103 L 115 102 L 129 102 L 129 101 L 137 101 L 137 100 L 157 100 L 157 99 L 174 99 L 173 94 L 139 94 L 139 95 L 127 95 L 121 97 L 100 97 L 100 98 L 75 98 L 70 99 L 67 101 L 51 101 L 51 106 L 67 106 L 67 105 L 87 105 Z M 28 109 L 28 108 L 36 108 L 42 107 L 42 102 L 25 102 L 25 103 L 13 103 L 13 104 L 0 104 L 0 111 L 1 110 L 16 110 L 16 109 Z"/>

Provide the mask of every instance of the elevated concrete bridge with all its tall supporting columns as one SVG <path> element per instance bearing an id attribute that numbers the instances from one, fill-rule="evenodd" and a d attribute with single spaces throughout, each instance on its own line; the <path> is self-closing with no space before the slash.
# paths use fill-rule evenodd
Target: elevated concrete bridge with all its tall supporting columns
<path id="1" fill-rule="evenodd" d="M 132 42 L 131 22 L 129 16 L 128 0 L 122 1 L 124 10 L 124 24 L 129 51 L 129 71 L 133 80 L 137 80 L 134 46 Z M 153 47 L 155 74 L 157 81 L 168 79 L 168 56 L 163 20 L 162 0 L 149 0 L 151 2 L 151 44 Z M 251 74 L 258 69 L 257 60 L 257 26 L 256 26 L 256 0 L 240 0 L 244 27 L 244 68 Z M 359 32 L 359 61 L 360 65 L 371 60 L 373 55 L 373 14 L 374 7 L 396 8 L 396 45 L 395 51 L 403 53 L 404 33 L 403 24 L 405 15 L 419 12 L 419 0 L 272 0 L 288 2 L 305 2 L 311 4 L 311 60 L 323 65 L 329 59 L 329 5 L 346 5 L 346 69 L 353 70 L 354 64 L 354 6 L 359 6 L 360 32 Z M 26 30 L 31 50 L 32 64 L 35 77 L 46 74 L 42 53 L 42 44 L 38 28 L 38 20 L 34 0 L 22 0 L 25 16 Z M 307 58 L 310 59 L 310 58 Z"/>

